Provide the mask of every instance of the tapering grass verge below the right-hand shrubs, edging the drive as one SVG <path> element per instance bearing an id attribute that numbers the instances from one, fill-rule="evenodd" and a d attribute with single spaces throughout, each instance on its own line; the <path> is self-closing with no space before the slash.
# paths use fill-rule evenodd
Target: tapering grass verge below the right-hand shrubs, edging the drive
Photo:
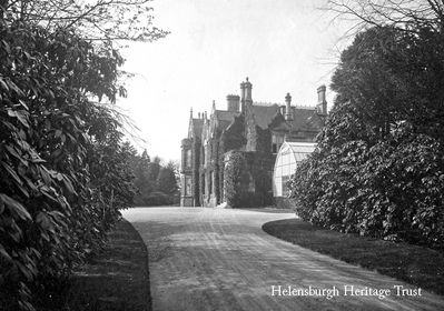
<path id="1" fill-rule="evenodd" d="M 444 253 L 438 251 L 341 233 L 299 219 L 267 222 L 263 230 L 303 248 L 444 294 Z"/>

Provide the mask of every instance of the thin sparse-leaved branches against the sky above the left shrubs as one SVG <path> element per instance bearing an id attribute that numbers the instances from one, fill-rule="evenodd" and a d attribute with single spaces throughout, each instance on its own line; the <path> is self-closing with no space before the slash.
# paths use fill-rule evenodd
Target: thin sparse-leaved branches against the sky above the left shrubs
<path id="1" fill-rule="evenodd" d="M 76 29 L 88 40 L 152 41 L 167 34 L 152 26 L 150 0 L 2 0 L 8 20 L 48 30 Z"/>

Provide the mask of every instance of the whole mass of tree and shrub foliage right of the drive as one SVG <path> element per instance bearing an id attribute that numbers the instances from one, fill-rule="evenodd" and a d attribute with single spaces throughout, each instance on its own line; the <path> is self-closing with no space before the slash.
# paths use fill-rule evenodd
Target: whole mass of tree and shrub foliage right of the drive
<path id="1" fill-rule="evenodd" d="M 318 148 L 290 182 L 304 220 L 444 247 L 443 57 L 442 33 L 427 28 L 355 38 Z"/>

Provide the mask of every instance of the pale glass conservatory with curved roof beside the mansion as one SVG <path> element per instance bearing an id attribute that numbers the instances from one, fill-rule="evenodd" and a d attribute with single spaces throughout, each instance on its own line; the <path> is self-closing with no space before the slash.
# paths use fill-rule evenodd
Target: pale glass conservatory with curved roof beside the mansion
<path id="1" fill-rule="evenodd" d="M 287 181 L 294 175 L 297 164 L 315 150 L 314 142 L 289 142 L 285 141 L 276 156 L 273 172 L 273 197 L 286 198 L 289 189 Z"/>

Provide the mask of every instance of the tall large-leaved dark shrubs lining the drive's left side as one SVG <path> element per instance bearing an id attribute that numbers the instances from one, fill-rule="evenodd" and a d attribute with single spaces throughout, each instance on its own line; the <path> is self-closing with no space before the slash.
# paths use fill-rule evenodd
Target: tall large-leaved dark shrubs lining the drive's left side
<path id="1" fill-rule="evenodd" d="M 102 243 L 132 203 L 110 102 L 122 58 L 73 31 L 0 19 L 0 307 L 32 295 Z M 4 293 L 4 294 L 3 294 Z"/>

